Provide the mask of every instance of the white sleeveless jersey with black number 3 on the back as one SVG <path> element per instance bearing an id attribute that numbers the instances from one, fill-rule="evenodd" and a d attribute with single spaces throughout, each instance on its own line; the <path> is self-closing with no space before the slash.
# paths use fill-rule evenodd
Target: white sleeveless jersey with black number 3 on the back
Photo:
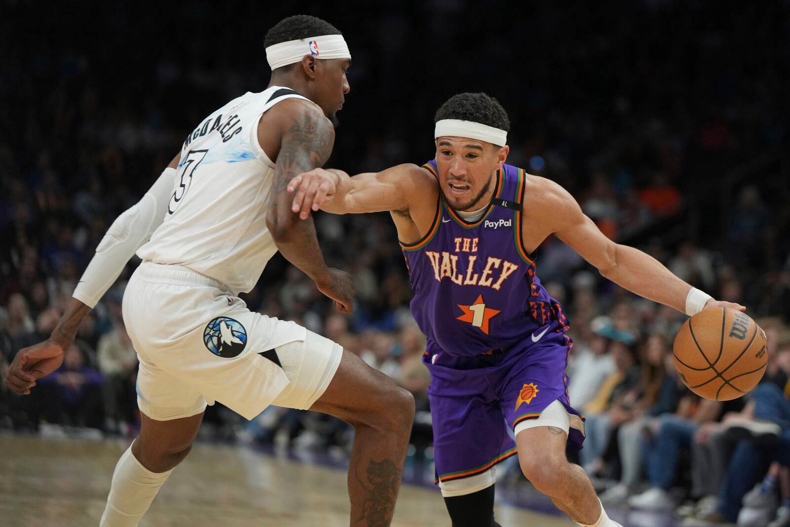
<path id="1" fill-rule="evenodd" d="M 258 121 L 294 97 L 305 99 L 280 86 L 247 92 L 186 137 L 164 223 L 137 256 L 184 265 L 234 294 L 254 287 L 277 251 L 266 228 L 274 163 L 258 144 Z"/>

